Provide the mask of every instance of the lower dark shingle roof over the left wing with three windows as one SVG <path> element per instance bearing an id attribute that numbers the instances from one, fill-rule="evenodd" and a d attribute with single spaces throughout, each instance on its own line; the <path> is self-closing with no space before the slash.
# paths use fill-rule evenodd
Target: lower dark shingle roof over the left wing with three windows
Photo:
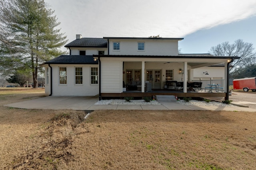
<path id="1" fill-rule="evenodd" d="M 61 55 L 44 64 L 98 64 L 92 55 Z"/>

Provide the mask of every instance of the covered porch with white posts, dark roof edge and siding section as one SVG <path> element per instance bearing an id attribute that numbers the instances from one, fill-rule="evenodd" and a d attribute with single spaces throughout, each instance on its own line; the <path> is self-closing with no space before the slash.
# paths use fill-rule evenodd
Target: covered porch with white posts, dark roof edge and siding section
<path id="1" fill-rule="evenodd" d="M 174 95 L 178 97 L 225 97 L 228 100 L 229 64 L 235 57 L 214 57 L 212 55 L 178 56 L 130 56 L 130 55 L 94 55 L 99 61 L 100 99 L 102 97 L 150 97 L 156 95 Z M 224 63 L 224 77 L 221 91 L 209 92 L 210 89 L 190 91 L 188 83 L 192 80 L 194 68 Z M 218 70 L 216 70 L 218 72 Z M 202 78 L 203 79 L 203 78 Z M 210 79 L 209 79 L 210 80 Z M 175 87 L 166 89 L 166 82 L 183 82 L 182 90 Z M 136 84 L 131 84 L 135 82 Z M 127 91 L 131 85 L 141 85 L 140 91 Z M 147 90 L 146 83 L 151 83 L 152 90 Z M 210 84 L 207 84 L 210 85 Z M 207 88 L 202 85 L 202 88 Z M 209 86 L 209 88 L 211 88 Z"/>

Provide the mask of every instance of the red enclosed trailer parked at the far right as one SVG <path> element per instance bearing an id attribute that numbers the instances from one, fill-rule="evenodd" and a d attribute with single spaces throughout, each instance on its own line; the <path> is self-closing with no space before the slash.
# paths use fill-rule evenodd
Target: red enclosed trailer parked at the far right
<path id="1" fill-rule="evenodd" d="M 243 89 L 245 92 L 248 90 L 256 91 L 256 77 L 240 78 L 233 80 L 234 89 Z"/>

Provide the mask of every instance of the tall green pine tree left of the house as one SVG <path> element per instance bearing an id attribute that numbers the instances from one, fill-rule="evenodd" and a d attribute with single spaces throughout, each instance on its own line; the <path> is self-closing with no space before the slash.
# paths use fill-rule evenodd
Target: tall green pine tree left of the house
<path id="1" fill-rule="evenodd" d="M 44 0 L 0 0 L 2 72 L 30 69 L 37 88 L 40 64 L 63 54 L 58 48 L 67 42 L 53 14 Z"/>

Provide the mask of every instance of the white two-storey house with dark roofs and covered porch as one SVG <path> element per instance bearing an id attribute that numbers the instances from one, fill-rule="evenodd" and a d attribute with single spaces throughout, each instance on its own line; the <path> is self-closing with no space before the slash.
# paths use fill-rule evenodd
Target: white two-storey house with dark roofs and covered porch
<path id="1" fill-rule="evenodd" d="M 150 91 L 166 89 L 166 85 L 168 90 L 174 90 L 176 87 L 172 82 L 207 78 L 207 71 L 221 75 L 224 93 L 188 92 L 187 83 L 183 83 L 179 96 L 228 98 L 229 64 L 239 57 L 178 54 L 178 41 L 181 40 L 183 38 L 82 38 L 76 35 L 76 40 L 65 45 L 70 55 L 61 55 L 42 64 L 45 67 L 45 93 L 50 96 L 99 95 L 100 99 L 152 96 Z M 214 68 L 216 64 L 223 64 L 221 72 Z M 201 70 L 200 74 L 196 70 Z M 175 95 L 176 92 L 164 94 Z"/>

